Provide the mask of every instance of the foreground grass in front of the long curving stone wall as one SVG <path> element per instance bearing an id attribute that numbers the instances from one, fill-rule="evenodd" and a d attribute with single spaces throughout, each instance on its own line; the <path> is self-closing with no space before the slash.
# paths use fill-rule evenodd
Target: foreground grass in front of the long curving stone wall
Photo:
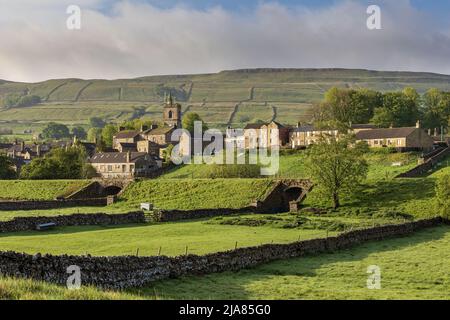
<path id="1" fill-rule="evenodd" d="M 159 281 L 104 292 L 32 280 L 0 279 L 1 299 L 450 299 L 450 227 L 369 242 L 340 252 L 276 261 L 239 272 Z M 367 268 L 381 289 L 367 289 Z M 211 290 L 214 288 L 214 290 Z"/>

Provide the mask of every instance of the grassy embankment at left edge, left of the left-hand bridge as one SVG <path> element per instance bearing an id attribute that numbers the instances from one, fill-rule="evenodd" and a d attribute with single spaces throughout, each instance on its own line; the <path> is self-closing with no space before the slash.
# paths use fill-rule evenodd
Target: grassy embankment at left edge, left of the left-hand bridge
<path id="1" fill-rule="evenodd" d="M 88 180 L 0 180 L 0 199 L 53 200 L 88 183 Z"/>

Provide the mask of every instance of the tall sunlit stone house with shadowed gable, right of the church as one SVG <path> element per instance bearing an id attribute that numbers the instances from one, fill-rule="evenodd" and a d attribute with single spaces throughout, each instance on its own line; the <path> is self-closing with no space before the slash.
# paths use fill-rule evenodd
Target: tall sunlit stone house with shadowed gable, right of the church
<path id="1" fill-rule="evenodd" d="M 244 127 L 246 149 L 283 147 L 289 142 L 289 128 L 271 121 L 270 123 L 249 123 Z"/>

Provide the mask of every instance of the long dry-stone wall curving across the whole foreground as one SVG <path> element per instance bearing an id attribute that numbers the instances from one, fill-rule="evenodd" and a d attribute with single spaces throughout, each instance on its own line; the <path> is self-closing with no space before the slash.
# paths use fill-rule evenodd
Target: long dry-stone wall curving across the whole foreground
<path id="1" fill-rule="evenodd" d="M 446 222 L 446 221 L 444 221 Z M 279 259 L 301 257 L 349 248 L 365 241 L 408 235 L 419 229 L 443 223 L 433 218 L 401 225 L 387 225 L 351 231 L 336 237 L 299 241 L 291 244 L 266 244 L 257 247 L 180 257 L 91 257 L 28 255 L 0 252 L 0 272 L 7 276 L 27 277 L 66 284 L 67 267 L 79 266 L 83 285 L 109 289 L 144 286 L 152 281 L 185 275 L 237 271 Z"/>

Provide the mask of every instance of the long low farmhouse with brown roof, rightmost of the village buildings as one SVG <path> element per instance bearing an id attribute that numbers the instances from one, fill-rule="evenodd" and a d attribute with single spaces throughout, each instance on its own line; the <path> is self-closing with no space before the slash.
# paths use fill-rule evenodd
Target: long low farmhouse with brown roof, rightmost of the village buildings
<path id="1" fill-rule="evenodd" d="M 392 147 L 402 151 L 433 149 L 434 139 L 420 128 L 386 128 L 363 130 L 356 133 L 357 141 L 365 141 L 372 148 Z"/>

